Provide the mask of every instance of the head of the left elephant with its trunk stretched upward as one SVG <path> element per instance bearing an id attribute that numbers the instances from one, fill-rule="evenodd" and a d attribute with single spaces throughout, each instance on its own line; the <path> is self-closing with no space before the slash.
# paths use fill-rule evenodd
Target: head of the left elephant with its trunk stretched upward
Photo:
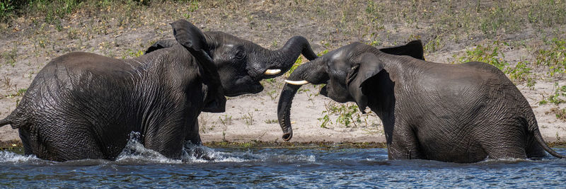
<path id="1" fill-rule="evenodd" d="M 293 66 L 299 55 L 316 59 L 311 45 L 302 36 L 287 40 L 279 50 L 267 50 L 248 40 L 223 32 L 206 32 L 203 42 L 218 69 L 225 96 L 259 93 L 262 79 L 284 74 Z M 146 50 L 146 54 L 178 45 L 175 40 L 159 40 Z"/>

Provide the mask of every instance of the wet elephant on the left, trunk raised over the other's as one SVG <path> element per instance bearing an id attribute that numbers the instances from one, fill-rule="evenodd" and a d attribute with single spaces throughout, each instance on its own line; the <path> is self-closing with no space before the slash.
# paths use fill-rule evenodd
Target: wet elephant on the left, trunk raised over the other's
<path id="1" fill-rule="evenodd" d="M 18 129 L 25 154 L 40 159 L 114 160 L 132 133 L 179 159 L 184 142 L 200 142 L 201 111 L 224 112 L 225 96 L 258 93 L 260 79 L 282 74 L 301 52 L 316 57 L 300 36 L 270 51 L 185 20 L 171 26 L 177 45 L 137 58 L 71 52 L 52 59 L 0 127 Z"/>

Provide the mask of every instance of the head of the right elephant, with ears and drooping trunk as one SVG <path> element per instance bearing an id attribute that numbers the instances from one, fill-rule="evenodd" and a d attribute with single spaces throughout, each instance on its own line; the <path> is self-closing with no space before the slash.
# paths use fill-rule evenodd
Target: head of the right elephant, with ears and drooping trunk
<path id="1" fill-rule="evenodd" d="M 277 117 L 284 133 L 283 139 L 289 140 L 293 137 L 290 121 L 291 103 L 296 91 L 304 84 L 326 84 L 320 89 L 320 94 L 340 103 L 355 101 L 364 112 L 367 100 L 360 91 L 359 85 L 383 69 L 379 60 L 374 58 L 383 52 L 424 59 L 420 40 L 379 50 L 370 45 L 354 42 L 297 67 L 286 80 L 287 84 L 284 85 L 277 105 Z"/>

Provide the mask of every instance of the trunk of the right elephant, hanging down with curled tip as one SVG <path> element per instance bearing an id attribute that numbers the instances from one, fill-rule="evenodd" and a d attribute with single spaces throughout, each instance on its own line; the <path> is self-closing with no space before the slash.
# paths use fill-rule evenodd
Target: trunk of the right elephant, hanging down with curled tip
<path id="1" fill-rule="evenodd" d="M 283 87 L 283 91 L 279 95 L 279 103 L 277 103 L 277 120 L 283 130 L 285 141 L 289 141 L 293 137 L 291 104 L 296 92 L 303 84 L 322 84 L 325 81 L 328 81 L 328 74 L 325 72 L 324 61 L 321 58 L 297 67 L 286 80 L 287 84 Z"/>

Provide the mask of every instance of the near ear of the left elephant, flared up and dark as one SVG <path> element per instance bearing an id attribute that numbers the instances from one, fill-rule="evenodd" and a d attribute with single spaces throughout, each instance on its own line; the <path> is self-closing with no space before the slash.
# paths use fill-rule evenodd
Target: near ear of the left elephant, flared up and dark
<path id="1" fill-rule="evenodd" d="M 209 56 L 209 47 L 204 34 L 197 26 L 183 19 L 171 23 L 175 40 L 187 49 L 197 64 L 202 68 L 202 83 L 206 85 L 203 91 L 205 112 L 221 113 L 226 110 L 226 97 L 220 83 L 218 70 Z"/>

